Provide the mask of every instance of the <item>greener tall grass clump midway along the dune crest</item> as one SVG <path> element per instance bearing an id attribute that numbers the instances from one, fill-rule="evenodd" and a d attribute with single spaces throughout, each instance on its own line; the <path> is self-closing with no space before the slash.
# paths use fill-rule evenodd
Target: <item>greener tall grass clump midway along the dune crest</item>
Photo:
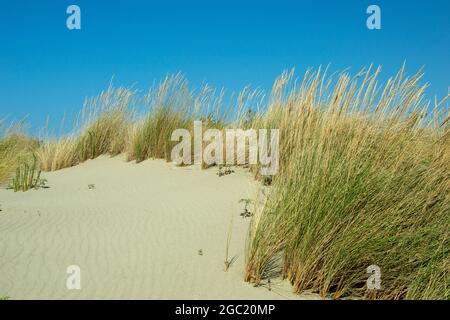
<path id="1" fill-rule="evenodd" d="M 171 151 L 177 143 L 171 141 L 172 133 L 176 129 L 186 129 L 193 138 L 195 120 L 202 121 L 203 130 L 224 130 L 239 116 L 234 112 L 237 105 L 224 108 L 223 98 L 223 91 L 216 95 L 208 85 L 194 92 L 180 74 L 167 76 L 142 99 L 146 113 L 133 125 L 128 158 L 137 162 L 149 158 L 171 161 Z"/>

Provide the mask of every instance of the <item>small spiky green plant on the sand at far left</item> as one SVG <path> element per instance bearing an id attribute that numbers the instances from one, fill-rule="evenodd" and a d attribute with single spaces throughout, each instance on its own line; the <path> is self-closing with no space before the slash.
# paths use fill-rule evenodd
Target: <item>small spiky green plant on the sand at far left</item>
<path id="1" fill-rule="evenodd" d="M 27 191 L 31 188 L 44 188 L 46 182 L 46 179 L 41 178 L 41 170 L 38 168 L 36 156 L 33 155 L 31 165 L 25 162 L 17 167 L 16 175 L 8 189 L 14 189 L 14 192 L 17 192 L 20 190 Z"/>

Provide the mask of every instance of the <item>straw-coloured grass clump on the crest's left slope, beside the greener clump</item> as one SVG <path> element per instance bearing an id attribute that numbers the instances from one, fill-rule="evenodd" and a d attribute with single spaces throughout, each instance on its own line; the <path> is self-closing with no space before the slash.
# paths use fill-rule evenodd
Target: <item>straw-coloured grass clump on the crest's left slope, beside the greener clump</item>
<path id="1" fill-rule="evenodd" d="M 88 99 L 67 136 L 46 137 L 36 151 L 41 168 L 58 170 L 77 165 L 99 155 L 117 155 L 125 151 L 130 110 L 135 92 L 112 85 L 99 96 Z"/>

